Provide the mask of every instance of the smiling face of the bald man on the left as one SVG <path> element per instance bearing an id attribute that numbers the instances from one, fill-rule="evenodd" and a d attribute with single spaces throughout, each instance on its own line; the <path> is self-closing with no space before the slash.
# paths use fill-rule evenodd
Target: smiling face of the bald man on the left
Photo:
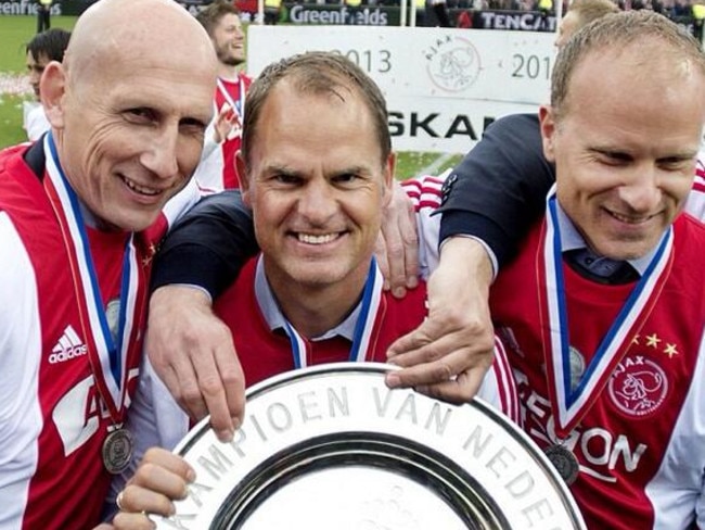
<path id="1" fill-rule="evenodd" d="M 168 7 L 142 5 L 153 4 Z M 195 21 L 170 10 L 161 16 L 149 30 L 130 22 L 104 43 L 77 26 L 65 66 L 50 63 L 42 78 L 62 167 L 106 228 L 150 226 L 201 156 L 215 90 L 213 49 Z"/>

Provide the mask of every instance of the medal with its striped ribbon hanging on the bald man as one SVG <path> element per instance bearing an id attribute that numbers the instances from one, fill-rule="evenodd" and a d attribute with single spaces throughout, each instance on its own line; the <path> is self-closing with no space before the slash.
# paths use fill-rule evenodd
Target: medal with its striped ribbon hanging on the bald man
<path id="1" fill-rule="evenodd" d="M 44 138 L 47 195 L 62 231 L 74 278 L 84 340 L 100 396 L 113 427 L 103 441 L 103 465 L 108 472 L 124 471 L 132 458 L 132 434 L 121 425 L 127 408 L 127 386 L 133 348 L 139 336 L 146 296 L 146 276 L 139 266 L 134 235 L 126 236 L 120 295 L 103 306 L 98 274 L 89 248 L 88 232 L 78 198 L 64 175 L 51 134 Z"/>

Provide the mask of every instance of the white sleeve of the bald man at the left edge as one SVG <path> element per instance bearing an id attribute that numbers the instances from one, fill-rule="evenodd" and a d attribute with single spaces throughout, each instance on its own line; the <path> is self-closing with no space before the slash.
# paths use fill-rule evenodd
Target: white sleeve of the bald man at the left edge
<path id="1" fill-rule="evenodd" d="M 18 528 L 37 468 L 41 327 L 31 261 L 0 212 L 0 528 Z"/>

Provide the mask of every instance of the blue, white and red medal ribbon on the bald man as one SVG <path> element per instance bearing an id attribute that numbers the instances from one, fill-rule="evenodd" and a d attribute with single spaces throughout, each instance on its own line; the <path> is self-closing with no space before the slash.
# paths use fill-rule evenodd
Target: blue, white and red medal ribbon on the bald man
<path id="1" fill-rule="evenodd" d="M 139 274 L 133 235 L 127 240 L 123 257 L 118 343 L 115 344 L 105 316 L 78 198 L 59 164 L 51 132 L 44 138 L 44 153 L 48 175 L 43 179 L 44 189 L 59 220 L 68 254 L 93 377 L 113 421 L 120 424 L 125 415 L 127 357 L 139 306 L 137 300 L 145 288 L 145 281 Z"/>

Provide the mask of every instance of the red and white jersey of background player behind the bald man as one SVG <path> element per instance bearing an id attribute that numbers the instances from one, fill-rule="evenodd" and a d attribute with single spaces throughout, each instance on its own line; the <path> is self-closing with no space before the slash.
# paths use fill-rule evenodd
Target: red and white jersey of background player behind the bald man
<path id="1" fill-rule="evenodd" d="M 242 72 L 238 74 L 235 80 L 218 78 L 214 98 L 214 118 L 206 129 L 203 154 L 194 175 L 204 192 L 240 188 L 235 154 L 240 150 L 242 140 L 245 93 L 251 84 L 252 78 Z M 232 128 L 223 141 L 217 143 L 214 140 L 215 121 L 226 104 L 239 116 L 241 123 Z"/>

